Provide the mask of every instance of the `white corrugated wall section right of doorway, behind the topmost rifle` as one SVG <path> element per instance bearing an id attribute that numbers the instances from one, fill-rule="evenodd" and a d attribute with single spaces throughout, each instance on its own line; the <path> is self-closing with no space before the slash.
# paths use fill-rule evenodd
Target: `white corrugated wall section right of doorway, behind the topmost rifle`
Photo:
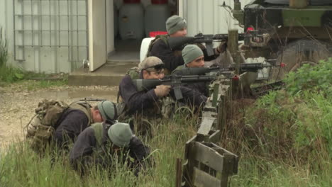
<path id="1" fill-rule="evenodd" d="M 231 10 L 221 5 L 234 7 L 234 0 L 183 0 L 183 16 L 187 19 L 188 35 L 197 33 L 217 34 L 228 33 L 230 28 L 238 28 L 240 32 L 243 29 L 238 27 L 238 21 L 231 17 Z M 252 0 L 241 0 L 242 7 Z"/>

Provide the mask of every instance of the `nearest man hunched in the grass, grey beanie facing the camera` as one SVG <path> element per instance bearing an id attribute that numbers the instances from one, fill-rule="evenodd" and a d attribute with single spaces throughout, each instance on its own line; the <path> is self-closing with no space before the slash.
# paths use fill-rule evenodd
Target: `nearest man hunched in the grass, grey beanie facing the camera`
<path id="1" fill-rule="evenodd" d="M 77 137 L 70 151 L 70 164 L 84 174 L 91 166 L 110 168 L 116 156 L 128 161 L 135 176 L 145 167 L 150 149 L 131 132 L 127 123 L 94 123 Z M 132 158 L 132 159 L 130 159 Z"/>

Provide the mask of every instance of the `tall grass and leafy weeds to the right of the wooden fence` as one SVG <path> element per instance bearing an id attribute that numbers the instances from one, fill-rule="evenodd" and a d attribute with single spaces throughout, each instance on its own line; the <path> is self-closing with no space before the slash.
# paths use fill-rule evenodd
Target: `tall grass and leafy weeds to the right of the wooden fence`
<path id="1" fill-rule="evenodd" d="M 331 64 L 301 67 L 286 89 L 234 103 L 221 141 L 241 157 L 232 186 L 332 186 Z"/>

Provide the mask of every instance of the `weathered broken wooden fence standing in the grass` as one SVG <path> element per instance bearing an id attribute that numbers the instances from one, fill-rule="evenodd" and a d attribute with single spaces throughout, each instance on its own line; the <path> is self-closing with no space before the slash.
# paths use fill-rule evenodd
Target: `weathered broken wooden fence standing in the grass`
<path id="1" fill-rule="evenodd" d="M 237 174 L 238 156 L 217 144 L 226 124 L 227 108 L 232 98 L 242 95 L 248 88 L 249 77 L 252 75 L 247 73 L 235 79 L 219 77 L 210 85 L 211 94 L 197 135 L 186 143 L 184 159 L 177 159 L 176 187 L 226 187 L 228 178 Z"/>

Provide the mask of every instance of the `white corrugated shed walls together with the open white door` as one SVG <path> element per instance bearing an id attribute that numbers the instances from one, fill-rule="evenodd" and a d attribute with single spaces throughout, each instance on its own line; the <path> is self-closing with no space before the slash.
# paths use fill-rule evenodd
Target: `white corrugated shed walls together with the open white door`
<path id="1" fill-rule="evenodd" d="M 28 71 L 57 73 L 72 72 L 88 59 L 94 71 L 114 52 L 114 3 L 121 6 L 121 0 L 1 0 L 0 27 L 6 31 L 11 62 Z M 223 0 L 170 3 L 187 19 L 188 35 L 237 27 L 230 10 L 221 6 Z M 233 0 L 225 3 L 233 7 Z"/>

